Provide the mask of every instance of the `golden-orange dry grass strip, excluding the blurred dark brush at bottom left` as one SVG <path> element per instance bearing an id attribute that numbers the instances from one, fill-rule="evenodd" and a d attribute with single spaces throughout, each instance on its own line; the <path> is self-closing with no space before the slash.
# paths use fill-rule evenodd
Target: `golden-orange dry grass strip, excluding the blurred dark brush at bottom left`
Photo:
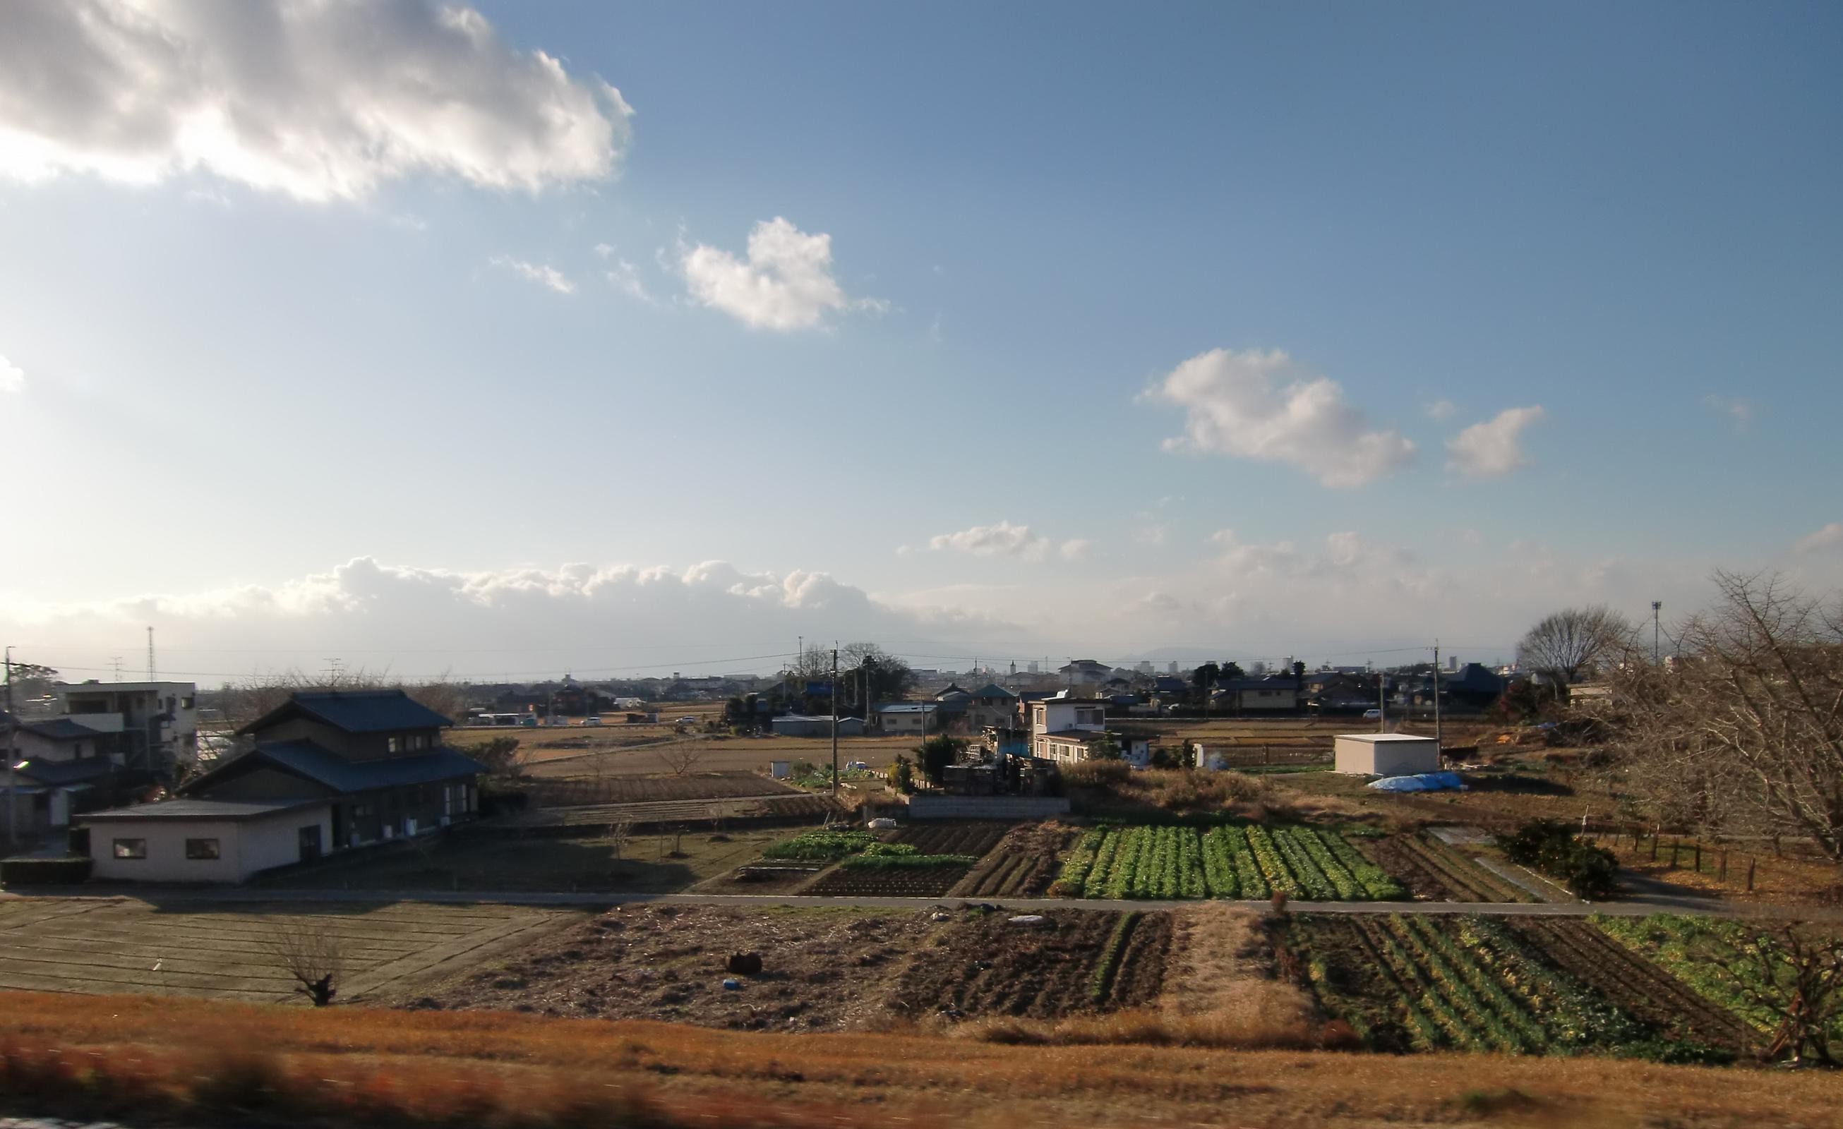
<path id="1" fill-rule="evenodd" d="M 435 1109 L 450 1101 L 446 1094 L 481 1090 L 527 1111 L 558 1109 L 584 1092 L 641 1094 L 684 1122 L 713 1125 L 1843 1123 L 1832 1074 L 1594 1057 L 999 1046 L 905 1031 L 769 1035 L 509 1013 L 29 993 L 0 996 L 0 1039 L 98 1055 L 88 1061 L 135 1059 L 144 1076 L 175 1085 L 197 1070 L 195 1057 L 265 1053 L 304 1085 L 389 1079 L 391 1092 Z"/>

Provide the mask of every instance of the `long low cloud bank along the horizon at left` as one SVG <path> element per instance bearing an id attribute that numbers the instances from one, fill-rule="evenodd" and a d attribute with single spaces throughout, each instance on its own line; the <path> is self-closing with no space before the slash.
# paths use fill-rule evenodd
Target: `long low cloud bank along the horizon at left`
<path id="1" fill-rule="evenodd" d="M 715 560 L 682 569 L 566 564 L 450 571 L 361 556 L 273 586 L 66 604 L 29 615 L 0 606 L 0 630 L 48 641 L 33 654 L 57 659 L 68 676 L 105 665 L 120 652 L 116 643 L 140 637 L 146 624 L 158 630 L 162 670 L 199 674 L 201 683 L 288 667 L 317 670 L 326 656 L 398 678 L 450 670 L 455 678 L 531 680 L 564 669 L 582 678 L 675 665 L 721 674 L 772 670 L 772 652 L 792 650 L 798 634 L 877 639 L 923 654 L 940 654 L 934 630 L 968 643 L 988 632 L 1015 635 L 1001 619 L 958 608 L 896 608 L 828 573 L 752 573 Z M 770 658 L 730 661 L 756 656 Z"/>

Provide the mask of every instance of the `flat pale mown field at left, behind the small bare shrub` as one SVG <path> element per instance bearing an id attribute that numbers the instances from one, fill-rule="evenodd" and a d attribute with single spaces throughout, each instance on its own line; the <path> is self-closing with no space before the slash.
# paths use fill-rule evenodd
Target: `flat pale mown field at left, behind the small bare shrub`
<path id="1" fill-rule="evenodd" d="M 514 906 L 225 906 L 155 899 L 0 901 L 0 987 L 289 1000 L 276 928 L 334 937 L 341 998 L 413 984 L 581 917 Z"/>

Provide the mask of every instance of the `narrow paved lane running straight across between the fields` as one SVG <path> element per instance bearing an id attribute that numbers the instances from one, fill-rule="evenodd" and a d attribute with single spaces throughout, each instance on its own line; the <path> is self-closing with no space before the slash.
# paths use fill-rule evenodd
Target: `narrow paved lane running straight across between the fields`
<path id="1" fill-rule="evenodd" d="M 9 897 L 0 893 L 0 897 Z M 800 897 L 781 893 L 527 893 L 527 891 L 444 891 L 444 890 L 118 890 L 92 888 L 70 893 L 37 893 L 33 897 L 127 897 L 160 906 L 227 904 L 227 902 L 308 902 L 308 904 L 505 904 L 505 906 L 579 906 L 586 910 L 619 904 L 665 906 L 851 906 L 861 910 L 929 910 L 934 906 L 990 904 L 1004 910 L 1036 914 L 1041 910 L 1178 910 L 1194 901 L 1113 901 L 1073 897 Z M 1268 908 L 1266 901 L 1227 902 L 1253 910 Z M 1814 906 L 1734 904 L 1696 897 L 1616 901 L 1616 902 L 1288 902 L 1294 914 L 1484 914 L 1487 917 L 1644 917 L 1648 914 L 1694 914 L 1707 917 L 1767 917 L 1797 921 L 1843 921 L 1843 910 Z"/>

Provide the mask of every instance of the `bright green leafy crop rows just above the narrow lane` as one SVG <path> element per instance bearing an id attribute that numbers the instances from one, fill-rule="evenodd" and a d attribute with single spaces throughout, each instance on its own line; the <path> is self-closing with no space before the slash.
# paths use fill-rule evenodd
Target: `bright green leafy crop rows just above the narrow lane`
<path id="1" fill-rule="evenodd" d="M 1060 897 L 1393 901 L 1395 879 L 1336 831 L 1314 827 L 1097 827 L 1051 886 Z"/>

